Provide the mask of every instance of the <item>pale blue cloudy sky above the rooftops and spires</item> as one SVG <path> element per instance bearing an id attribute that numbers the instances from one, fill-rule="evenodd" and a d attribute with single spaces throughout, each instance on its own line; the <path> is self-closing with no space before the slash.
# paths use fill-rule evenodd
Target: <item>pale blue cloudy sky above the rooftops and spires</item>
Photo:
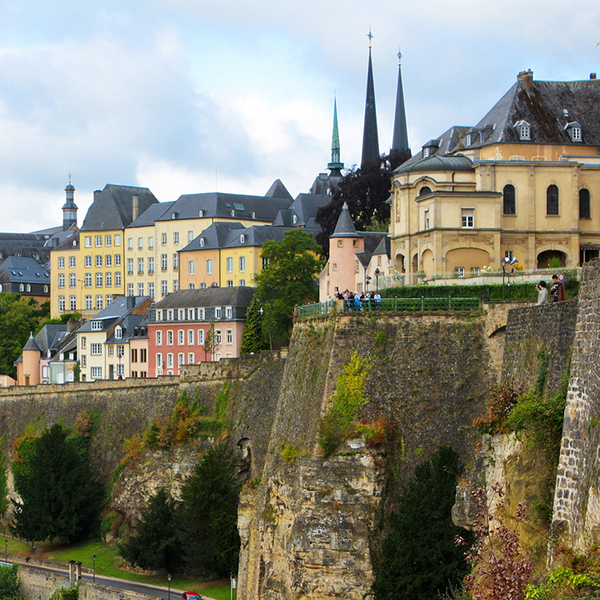
<path id="1" fill-rule="evenodd" d="M 181 194 L 308 192 L 360 162 L 372 56 L 380 151 L 402 52 L 409 142 L 474 125 L 532 69 L 600 76 L 598 0 L 0 0 L 0 230 L 79 224 L 107 183 Z"/>

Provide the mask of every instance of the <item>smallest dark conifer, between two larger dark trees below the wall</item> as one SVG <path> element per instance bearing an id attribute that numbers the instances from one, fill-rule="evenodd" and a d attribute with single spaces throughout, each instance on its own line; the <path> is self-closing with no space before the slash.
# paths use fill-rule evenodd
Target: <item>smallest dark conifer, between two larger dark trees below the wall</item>
<path id="1" fill-rule="evenodd" d="M 119 553 L 142 569 L 172 571 L 181 564 L 181 542 L 175 527 L 175 502 L 163 488 L 150 497 L 135 533 L 119 544 Z"/>

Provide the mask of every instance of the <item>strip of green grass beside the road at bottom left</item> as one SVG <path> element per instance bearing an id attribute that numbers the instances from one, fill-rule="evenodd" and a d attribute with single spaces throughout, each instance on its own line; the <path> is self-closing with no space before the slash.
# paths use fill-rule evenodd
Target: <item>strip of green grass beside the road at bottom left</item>
<path id="1" fill-rule="evenodd" d="M 0 550 L 2 550 L 2 544 L 3 542 L 0 539 Z M 8 538 L 8 552 L 9 554 L 20 556 L 31 556 L 31 547 L 18 542 L 17 540 Z M 88 541 L 81 544 L 73 544 L 72 546 L 38 542 L 36 543 L 35 558 L 65 564 L 70 560 L 76 560 L 82 563 L 84 569 L 91 570 L 93 567 L 93 554 L 96 555 L 96 575 L 117 577 L 128 581 L 136 581 L 137 583 L 167 588 L 168 582 L 166 573 L 159 575 L 143 575 L 141 573 L 127 571 L 122 568 L 123 559 L 117 554 L 116 546 L 106 545 L 98 541 Z M 202 596 L 210 596 L 216 600 L 230 599 L 228 579 L 206 581 L 204 579 L 173 574 L 173 579 L 171 580 L 171 598 L 173 600 L 178 600 L 178 594 L 174 593 L 173 590 L 198 592 Z"/>

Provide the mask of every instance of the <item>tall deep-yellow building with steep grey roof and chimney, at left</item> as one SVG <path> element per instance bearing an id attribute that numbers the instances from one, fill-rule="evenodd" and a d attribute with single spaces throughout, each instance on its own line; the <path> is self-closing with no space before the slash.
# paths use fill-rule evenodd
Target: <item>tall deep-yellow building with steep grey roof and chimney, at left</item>
<path id="1" fill-rule="evenodd" d="M 90 317 L 125 295 L 125 227 L 157 203 L 147 188 L 109 184 L 94 192 L 79 240 L 82 315 Z"/>

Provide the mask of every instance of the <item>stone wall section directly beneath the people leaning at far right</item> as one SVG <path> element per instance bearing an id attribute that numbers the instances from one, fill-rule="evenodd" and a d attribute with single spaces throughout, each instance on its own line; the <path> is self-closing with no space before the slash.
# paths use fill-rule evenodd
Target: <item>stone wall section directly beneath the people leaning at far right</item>
<path id="1" fill-rule="evenodd" d="M 527 391 L 537 379 L 540 352 L 548 351 L 546 393 L 554 394 L 565 377 L 575 339 L 577 301 L 530 306 L 508 313 L 502 380 Z"/>

